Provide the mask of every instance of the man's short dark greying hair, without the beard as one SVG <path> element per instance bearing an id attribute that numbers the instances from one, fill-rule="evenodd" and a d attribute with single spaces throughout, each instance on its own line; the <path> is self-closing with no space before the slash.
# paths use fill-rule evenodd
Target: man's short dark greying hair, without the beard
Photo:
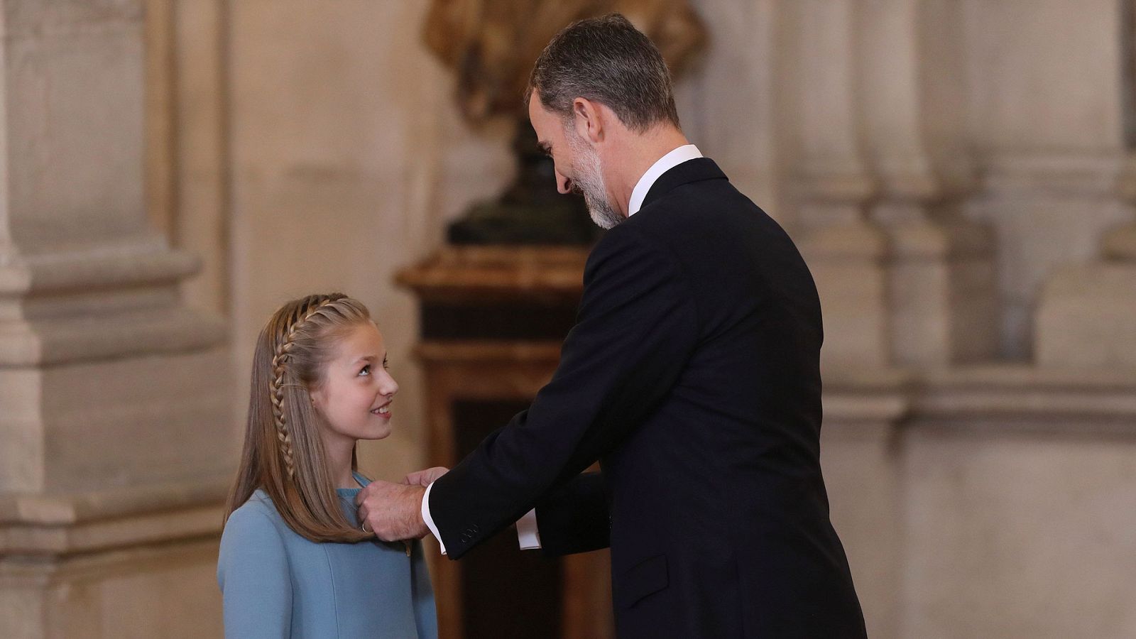
<path id="1" fill-rule="evenodd" d="M 670 72 L 654 43 L 619 14 L 575 22 L 536 59 L 525 105 L 536 90 L 545 109 L 568 118 L 576 98 L 607 105 L 642 133 L 660 122 L 678 126 Z"/>

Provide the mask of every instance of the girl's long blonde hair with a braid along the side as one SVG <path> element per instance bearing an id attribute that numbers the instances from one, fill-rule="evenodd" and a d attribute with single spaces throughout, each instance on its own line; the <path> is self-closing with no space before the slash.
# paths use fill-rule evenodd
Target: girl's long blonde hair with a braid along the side
<path id="1" fill-rule="evenodd" d="M 282 306 L 257 339 L 249 420 L 225 521 L 264 489 L 284 522 L 311 541 L 354 542 L 371 534 L 351 525 L 327 472 L 319 437 L 323 417 L 311 391 L 335 352 L 335 342 L 371 322 L 367 307 L 343 293 L 308 296 Z M 356 470 L 354 451 L 351 470 Z"/>

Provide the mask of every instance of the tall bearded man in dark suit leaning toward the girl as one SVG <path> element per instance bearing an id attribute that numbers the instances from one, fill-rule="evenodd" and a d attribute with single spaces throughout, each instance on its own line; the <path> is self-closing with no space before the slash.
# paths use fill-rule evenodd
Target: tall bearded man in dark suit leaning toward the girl
<path id="1" fill-rule="evenodd" d="M 560 32 L 531 84 L 559 190 L 610 229 L 577 324 L 528 410 L 410 478 L 428 488 L 371 483 L 361 516 L 457 559 L 535 506 L 545 551 L 610 543 L 625 639 L 864 637 L 820 473 L 820 304 L 793 242 L 687 142 L 661 56 L 621 16 Z"/>

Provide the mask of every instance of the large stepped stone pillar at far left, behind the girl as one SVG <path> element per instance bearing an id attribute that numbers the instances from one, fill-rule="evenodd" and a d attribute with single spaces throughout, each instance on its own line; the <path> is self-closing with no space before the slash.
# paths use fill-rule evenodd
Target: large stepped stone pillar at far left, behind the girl
<path id="1" fill-rule="evenodd" d="M 216 636 L 228 357 L 148 226 L 142 3 L 0 11 L 0 636 Z"/>

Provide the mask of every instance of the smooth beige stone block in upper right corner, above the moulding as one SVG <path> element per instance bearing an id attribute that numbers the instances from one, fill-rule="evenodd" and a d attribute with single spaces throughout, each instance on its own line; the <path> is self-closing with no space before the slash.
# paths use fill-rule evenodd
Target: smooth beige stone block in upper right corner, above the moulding
<path id="1" fill-rule="evenodd" d="M 1120 148 L 1122 52 L 1114 2 L 966 0 L 962 6 L 969 125 L 979 155 Z"/>

